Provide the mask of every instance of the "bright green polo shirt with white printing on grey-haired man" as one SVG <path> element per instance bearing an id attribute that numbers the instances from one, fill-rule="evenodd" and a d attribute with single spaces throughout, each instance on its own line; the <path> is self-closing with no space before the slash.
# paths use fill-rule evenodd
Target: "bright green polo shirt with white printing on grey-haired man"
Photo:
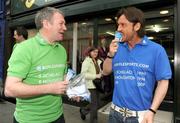
<path id="1" fill-rule="evenodd" d="M 38 85 L 64 80 L 67 54 L 59 44 L 48 44 L 38 33 L 18 44 L 9 60 L 8 76 Z M 60 95 L 17 98 L 14 116 L 19 123 L 50 123 L 63 113 Z"/>

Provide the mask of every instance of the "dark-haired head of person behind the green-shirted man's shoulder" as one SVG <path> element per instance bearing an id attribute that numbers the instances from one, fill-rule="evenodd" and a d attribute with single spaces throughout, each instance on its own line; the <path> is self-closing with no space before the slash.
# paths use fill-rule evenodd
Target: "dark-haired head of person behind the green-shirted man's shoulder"
<path id="1" fill-rule="evenodd" d="M 14 30 L 14 39 L 16 44 L 14 45 L 14 47 L 16 47 L 16 45 L 18 43 L 23 42 L 24 40 L 27 40 L 28 38 L 28 32 L 26 30 L 25 27 L 23 26 L 19 26 Z M 13 48 L 14 49 L 14 48 Z"/>

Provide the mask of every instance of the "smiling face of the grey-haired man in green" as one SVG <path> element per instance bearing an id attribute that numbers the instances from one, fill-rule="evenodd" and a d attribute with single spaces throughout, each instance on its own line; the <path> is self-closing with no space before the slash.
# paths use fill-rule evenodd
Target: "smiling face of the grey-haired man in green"
<path id="1" fill-rule="evenodd" d="M 53 41 L 61 41 L 64 39 L 64 32 L 67 30 L 65 23 L 63 15 L 54 13 L 48 27 Z"/>

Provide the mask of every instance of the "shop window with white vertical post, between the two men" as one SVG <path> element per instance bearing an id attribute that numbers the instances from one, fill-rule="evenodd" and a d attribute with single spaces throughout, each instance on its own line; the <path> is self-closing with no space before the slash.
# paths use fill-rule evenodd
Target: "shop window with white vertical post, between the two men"
<path id="1" fill-rule="evenodd" d="M 86 49 L 93 44 L 93 23 L 92 21 L 79 21 L 77 22 L 77 44 L 73 44 L 73 23 L 67 24 L 67 31 L 62 41 L 63 46 L 66 48 L 68 53 L 68 64 L 69 67 L 73 66 L 73 45 L 77 45 L 77 62 L 76 71 L 80 73 L 82 61 L 85 58 L 84 52 Z M 76 33 L 76 32 L 74 32 Z"/>

